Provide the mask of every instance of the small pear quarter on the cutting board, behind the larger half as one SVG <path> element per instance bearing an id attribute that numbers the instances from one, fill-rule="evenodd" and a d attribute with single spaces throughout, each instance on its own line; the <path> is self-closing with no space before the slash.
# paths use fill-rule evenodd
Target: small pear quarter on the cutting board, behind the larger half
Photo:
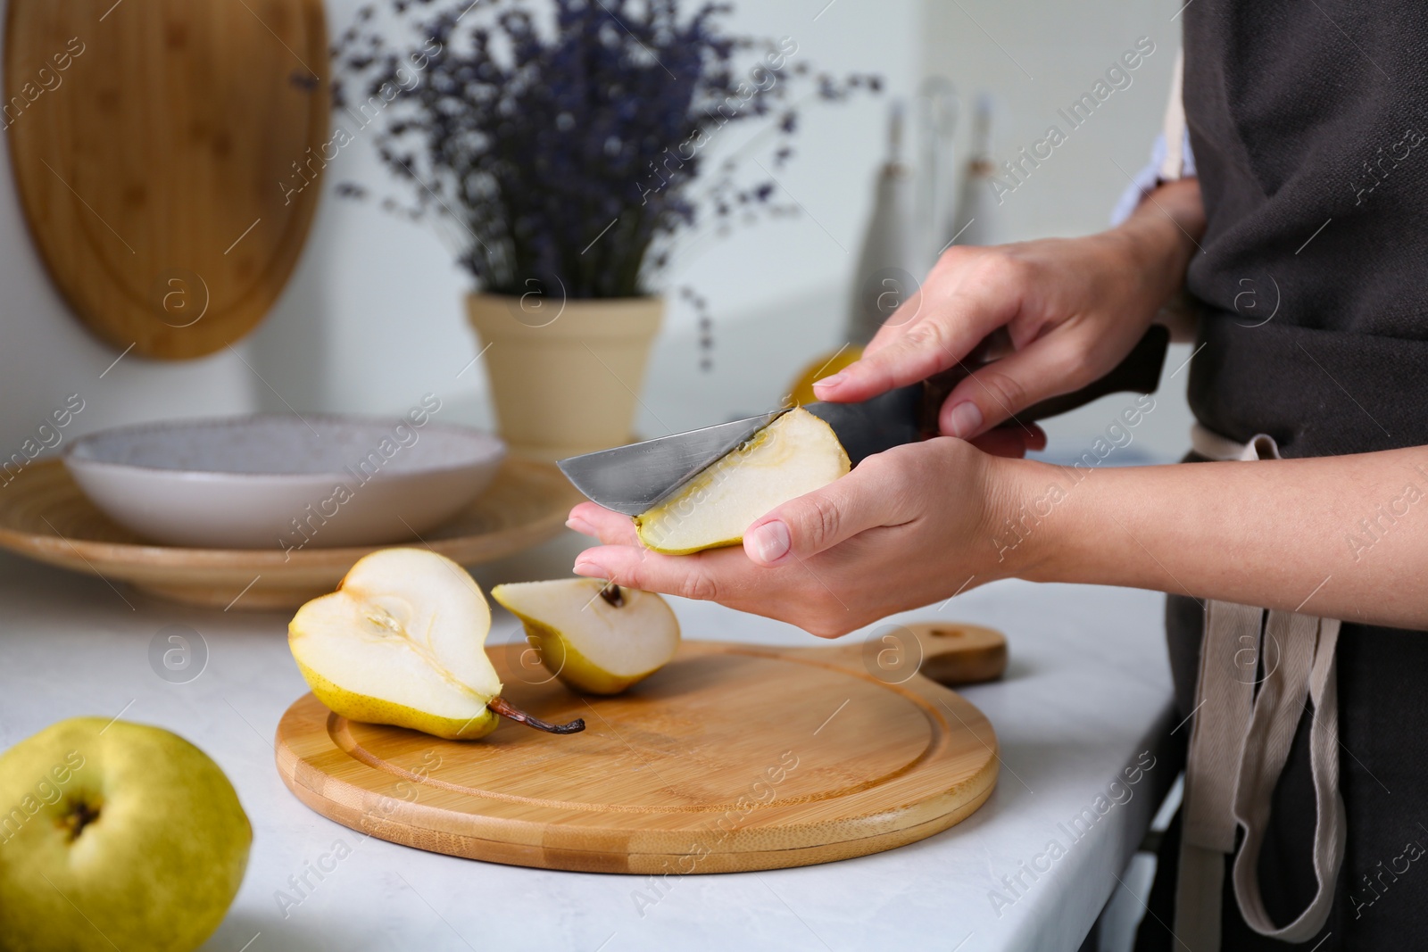
<path id="1" fill-rule="evenodd" d="M 526 624 L 541 664 L 575 691 L 620 694 L 680 649 L 680 622 L 654 592 L 560 578 L 497 585 L 491 598 Z"/>

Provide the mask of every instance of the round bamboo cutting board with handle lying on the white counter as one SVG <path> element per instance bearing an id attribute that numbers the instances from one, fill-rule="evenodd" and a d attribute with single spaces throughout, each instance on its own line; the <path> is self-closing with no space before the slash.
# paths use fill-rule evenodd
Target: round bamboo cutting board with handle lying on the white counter
<path id="1" fill-rule="evenodd" d="M 490 862 L 623 873 L 803 866 L 931 836 L 997 781 L 987 718 L 931 681 L 985 681 L 1001 634 L 888 627 L 863 644 L 687 641 L 627 694 L 581 697 L 524 642 L 488 648 L 517 707 L 481 741 L 357 724 L 298 699 L 277 766 L 310 808 L 397 844 Z"/>

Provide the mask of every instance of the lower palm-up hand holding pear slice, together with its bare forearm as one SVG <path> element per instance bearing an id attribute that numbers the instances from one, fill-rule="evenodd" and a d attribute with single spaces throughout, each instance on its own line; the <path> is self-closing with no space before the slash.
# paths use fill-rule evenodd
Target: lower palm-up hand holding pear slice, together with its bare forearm
<path id="1" fill-rule="evenodd" d="M 583 502 L 575 572 L 837 637 L 998 578 L 1124 585 L 1428 627 L 1428 447 L 1314 460 L 1054 467 L 937 437 L 868 457 L 757 520 L 743 548 L 660 555 Z M 1395 522 L 1397 524 L 1397 522 Z M 1417 522 L 1412 522 L 1417 525 Z M 1382 528 L 1382 524 L 1375 524 Z"/>

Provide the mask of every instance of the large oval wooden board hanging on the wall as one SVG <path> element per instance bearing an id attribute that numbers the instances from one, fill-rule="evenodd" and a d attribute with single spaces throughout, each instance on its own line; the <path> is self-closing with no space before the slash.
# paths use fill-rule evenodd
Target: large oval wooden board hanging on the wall
<path id="1" fill-rule="evenodd" d="M 4 59 L 16 184 L 77 317 L 169 360 L 253 330 L 334 154 L 321 0 L 9 0 Z"/>

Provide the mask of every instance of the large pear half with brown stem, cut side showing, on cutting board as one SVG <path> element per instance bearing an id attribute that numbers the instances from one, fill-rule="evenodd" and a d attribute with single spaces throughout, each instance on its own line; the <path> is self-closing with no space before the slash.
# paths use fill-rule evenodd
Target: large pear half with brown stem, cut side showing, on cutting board
<path id="1" fill-rule="evenodd" d="M 314 598 L 288 624 L 303 678 L 334 714 L 393 724 L 451 741 L 496 729 L 506 715 L 555 734 L 507 704 L 486 657 L 491 609 L 464 568 L 427 550 L 388 548 L 351 567 L 337 591 Z"/>

